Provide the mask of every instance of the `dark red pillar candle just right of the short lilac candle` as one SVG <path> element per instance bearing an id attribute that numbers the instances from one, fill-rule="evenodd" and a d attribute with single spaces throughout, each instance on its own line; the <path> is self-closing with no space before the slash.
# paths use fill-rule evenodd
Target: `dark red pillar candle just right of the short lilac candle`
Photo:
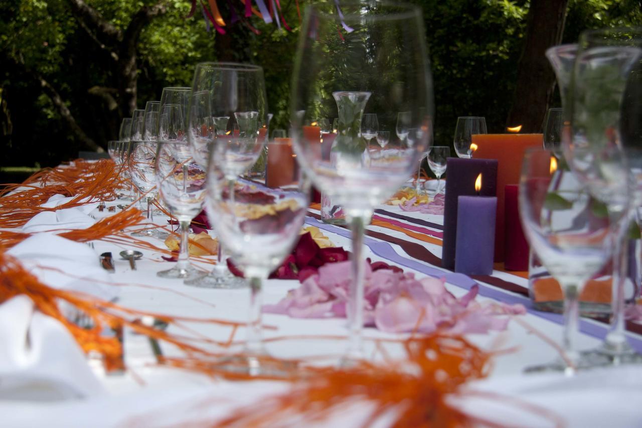
<path id="1" fill-rule="evenodd" d="M 504 267 L 507 271 L 528 271 L 528 242 L 519 221 L 519 186 L 507 184 L 504 191 Z"/>

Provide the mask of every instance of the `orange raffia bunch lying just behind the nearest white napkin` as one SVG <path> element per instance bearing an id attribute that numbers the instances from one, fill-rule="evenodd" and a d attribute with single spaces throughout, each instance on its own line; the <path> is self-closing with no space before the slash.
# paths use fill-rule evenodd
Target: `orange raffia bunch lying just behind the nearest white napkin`
<path id="1" fill-rule="evenodd" d="M 178 335 L 168 334 L 162 330 L 156 330 L 150 326 L 145 326 L 132 317 L 153 316 L 166 321 L 167 323 L 177 323 L 177 321 L 194 321 L 214 323 L 230 327 L 232 332 L 229 339 L 225 342 L 213 340 L 207 341 L 219 346 L 227 346 L 232 343 L 234 333 L 243 323 L 226 321 L 221 319 L 197 319 L 192 317 L 169 317 L 151 312 L 144 312 L 130 308 L 121 307 L 116 303 L 111 303 L 102 299 L 94 298 L 80 292 L 68 290 L 53 289 L 38 278 L 26 271 L 24 267 L 12 256 L 0 252 L 0 303 L 13 298 L 19 294 L 25 294 L 35 304 L 35 307 L 45 315 L 51 316 L 62 323 L 67 330 L 73 335 L 85 352 L 96 351 L 105 355 L 108 361 L 114 361 L 122 354 L 122 346 L 116 337 L 105 337 L 101 335 L 103 326 L 116 328 L 118 326 L 128 326 L 135 332 L 139 332 L 149 337 L 154 337 L 167 343 L 171 343 L 188 355 L 203 355 L 216 357 L 218 354 L 208 352 L 188 341 L 194 341 L 193 338 L 184 338 Z M 65 301 L 72 307 L 82 312 L 92 319 L 92 328 L 82 328 L 62 314 L 59 301 Z M 203 340 L 201 340 L 203 341 Z"/>

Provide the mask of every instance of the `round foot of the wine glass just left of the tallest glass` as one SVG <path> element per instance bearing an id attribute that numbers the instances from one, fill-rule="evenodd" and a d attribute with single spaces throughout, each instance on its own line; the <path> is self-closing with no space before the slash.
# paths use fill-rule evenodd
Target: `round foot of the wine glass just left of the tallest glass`
<path id="1" fill-rule="evenodd" d="M 223 357 L 216 362 L 216 369 L 230 375 L 285 379 L 296 374 L 297 364 L 275 359 L 267 352 L 243 353 Z"/>

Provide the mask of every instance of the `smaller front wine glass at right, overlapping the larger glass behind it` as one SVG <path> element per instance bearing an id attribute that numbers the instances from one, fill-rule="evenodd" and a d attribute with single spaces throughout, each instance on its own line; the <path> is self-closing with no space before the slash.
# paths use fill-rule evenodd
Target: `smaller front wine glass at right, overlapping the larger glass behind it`
<path id="1" fill-rule="evenodd" d="M 578 297 L 586 282 L 608 262 L 619 224 L 591 215 L 591 195 L 569 170 L 558 168 L 549 150 L 526 153 L 519 183 L 519 215 L 528 242 L 564 292 L 562 360 L 527 371 L 572 375 L 589 364 L 575 349 Z M 560 165 L 561 166 L 561 165 Z M 623 186 L 627 188 L 626 183 Z M 555 201 L 551 203 L 551 195 Z"/>

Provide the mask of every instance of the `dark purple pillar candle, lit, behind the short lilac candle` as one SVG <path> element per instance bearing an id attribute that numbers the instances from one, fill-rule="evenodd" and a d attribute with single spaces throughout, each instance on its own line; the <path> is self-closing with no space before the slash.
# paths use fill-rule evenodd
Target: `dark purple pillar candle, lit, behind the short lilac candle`
<path id="1" fill-rule="evenodd" d="M 455 269 L 457 238 L 457 204 L 460 196 L 496 196 L 497 165 L 496 159 L 458 159 L 447 160 L 446 201 L 444 201 L 444 243 L 442 247 L 442 266 Z M 475 191 L 475 180 L 482 174 L 482 189 Z M 490 251 L 492 253 L 492 251 Z"/>

